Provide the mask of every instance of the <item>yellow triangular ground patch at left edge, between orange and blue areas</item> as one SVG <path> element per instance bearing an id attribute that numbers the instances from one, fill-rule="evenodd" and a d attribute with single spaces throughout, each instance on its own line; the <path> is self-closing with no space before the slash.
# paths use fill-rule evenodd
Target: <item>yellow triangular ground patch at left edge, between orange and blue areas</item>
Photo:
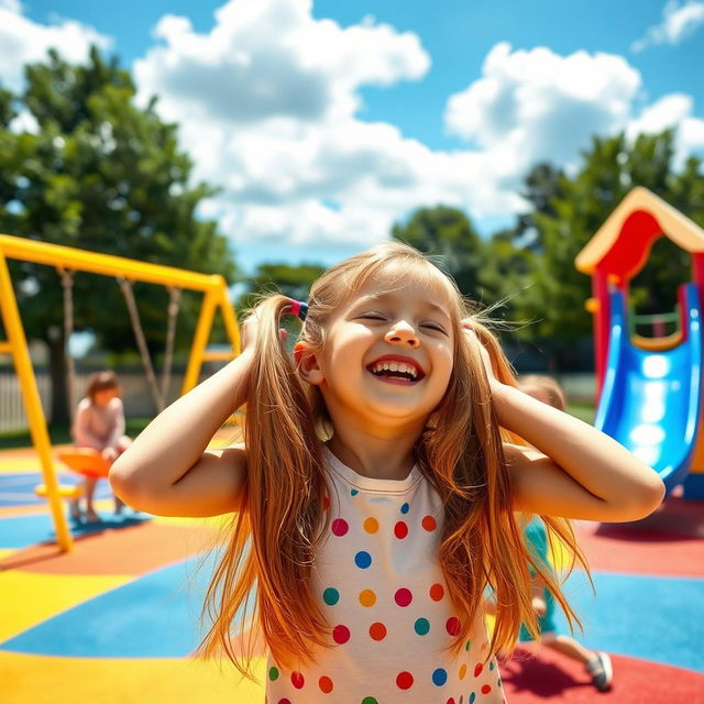
<path id="1" fill-rule="evenodd" d="M 0 572 L 0 642 L 133 579 L 134 575 Z"/>

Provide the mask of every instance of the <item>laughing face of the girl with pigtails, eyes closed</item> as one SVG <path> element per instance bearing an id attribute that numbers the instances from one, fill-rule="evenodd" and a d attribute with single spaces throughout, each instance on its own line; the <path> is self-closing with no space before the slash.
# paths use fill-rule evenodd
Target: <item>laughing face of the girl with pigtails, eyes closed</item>
<path id="1" fill-rule="evenodd" d="M 333 421 L 425 422 L 448 388 L 453 349 L 441 286 L 370 280 L 333 316 L 319 356 L 319 386 Z"/>

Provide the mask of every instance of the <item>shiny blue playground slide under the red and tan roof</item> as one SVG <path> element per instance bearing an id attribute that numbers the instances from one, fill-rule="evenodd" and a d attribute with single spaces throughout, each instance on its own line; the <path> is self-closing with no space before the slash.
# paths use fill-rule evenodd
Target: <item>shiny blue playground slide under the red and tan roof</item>
<path id="1" fill-rule="evenodd" d="M 701 309 L 694 284 L 683 285 L 680 301 L 682 341 L 652 352 L 632 344 L 624 295 L 610 295 L 608 366 L 594 421 L 659 472 L 668 492 L 689 473 L 701 411 Z"/>

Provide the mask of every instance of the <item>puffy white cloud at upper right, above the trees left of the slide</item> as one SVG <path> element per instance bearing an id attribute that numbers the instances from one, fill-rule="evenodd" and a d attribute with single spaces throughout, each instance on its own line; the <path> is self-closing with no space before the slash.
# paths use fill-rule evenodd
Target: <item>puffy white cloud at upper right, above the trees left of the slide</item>
<path id="1" fill-rule="evenodd" d="M 448 100 L 446 124 L 518 175 L 539 160 L 569 163 L 593 134 L 625 127 L 640 85 L 620 56 L 499 43 L 482 77 Z"/>

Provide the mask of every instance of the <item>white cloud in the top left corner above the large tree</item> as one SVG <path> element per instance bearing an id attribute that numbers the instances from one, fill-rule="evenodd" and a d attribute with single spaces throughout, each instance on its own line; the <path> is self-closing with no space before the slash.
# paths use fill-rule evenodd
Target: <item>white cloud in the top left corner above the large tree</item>
<path id="1" fill-rule="evenodd" d="M 0 0 L 0 81 L 7 88 L 19 90 L 24 65 L 43 61 L 48 48 L 69 62 L 84 62 L 91 44 L 105 50 L 111 40 L 74 20 L 38 24 L 22 14 L 18 0 Z"/>

